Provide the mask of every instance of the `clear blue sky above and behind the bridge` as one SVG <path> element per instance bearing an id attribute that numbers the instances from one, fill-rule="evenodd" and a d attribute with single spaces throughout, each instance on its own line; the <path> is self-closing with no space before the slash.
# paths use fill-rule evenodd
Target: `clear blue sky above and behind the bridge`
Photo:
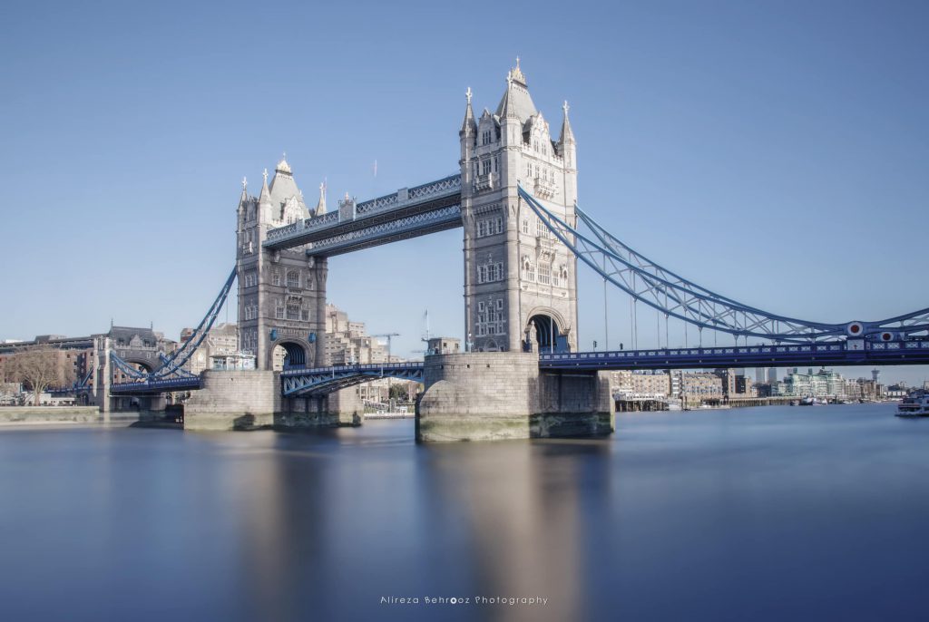
<path id="1" fill-rule="evenodd" d="M 582 207 L 634 248 L 794 317 L 929 306 L 926 3 L 312 4 L 7 6 L 0 338 L 177 338 L 232 266 L 242 175 L 286 151 L 334 202 L 454 173 L 464 89 L 492 109 L 517 55 L 553 126 L 571 104 Z M 334 258 L 329 293 L 400 356 L 426 306 L 461 336 L 461 233 Z M 581 307 L 603 343 L 584 272 Z"/>

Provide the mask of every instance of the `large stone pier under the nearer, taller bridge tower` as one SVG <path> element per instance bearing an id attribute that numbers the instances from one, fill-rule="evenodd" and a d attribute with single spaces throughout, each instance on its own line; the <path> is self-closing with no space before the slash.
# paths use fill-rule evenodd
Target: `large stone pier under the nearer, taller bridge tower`
<path id="1" fill-rule="evenodd" d="M 614 429 L 606 373 L 540 373 L 531 353 L 425 357 L 419 442 L 596 436 Z"/>

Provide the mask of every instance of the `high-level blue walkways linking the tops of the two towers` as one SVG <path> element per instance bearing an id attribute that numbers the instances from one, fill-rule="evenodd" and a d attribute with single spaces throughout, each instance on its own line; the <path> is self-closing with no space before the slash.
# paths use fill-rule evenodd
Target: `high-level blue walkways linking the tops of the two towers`
<path id="1" fill-rule="evenodd" d="M 262 243 L 262 246 L 267 249 L 287 249 L 313 244 L 316 250 L 311 254 L 325 254 L 328 256 L 329 254 L 348 253 L 358 249 L 344 245 L 334 249 L 319 244 L 326 240 L 333 240 L 364 229 L 373 229 L 373 227 L 384 226 L 403 219 L 407 219 L 408 222 L 412 223 L 415 222 L 412 219 L 416 216 L 437 212 L 442 208 L 459 205 L 460 202 L 461 175 L 450 175 L 415 188 L 402 188 L 394 194 L 379 197 L 372 201 L 360 202 L 349 216 L 343 215 L 343 211 L 338 210 L 307 218 L 284 227 L 270 229 L 268 238 Z M 438 214 L 434 219 L 437 218 Z M 433 233 L 443 228 L 454 227 L 451 222 L 444 223 L 441 228 L 432 228 L 438 227 L 438 224 L 427 223 L 422 218 L 419 219 L 419 222 L 422 227 L 409 227 L 404 231 L 404 237 L 400 239 L 412 238 L 417 235 Z M 383 244 L 388 241 L 393 240 L 387 239 L 376 243 Z M 374 246 L 376 243 L 369 240 L 367 245 L 360 248 Z"/>

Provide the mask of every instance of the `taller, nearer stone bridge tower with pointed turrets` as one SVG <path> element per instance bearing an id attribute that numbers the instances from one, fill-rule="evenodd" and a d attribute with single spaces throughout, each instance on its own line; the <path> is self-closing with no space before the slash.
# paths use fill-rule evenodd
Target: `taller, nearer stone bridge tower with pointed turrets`
<path id="1" fill-rule="evenodd" d="M 465 330 L 472 351 L 577 349 L 577 259 L 517 193 L 521 184 L 575 224 L 577 146 L 565 102 L 555 141 L 519 68 L 496 110 L 475 118 L 467 92 L 461 138 Z"/>

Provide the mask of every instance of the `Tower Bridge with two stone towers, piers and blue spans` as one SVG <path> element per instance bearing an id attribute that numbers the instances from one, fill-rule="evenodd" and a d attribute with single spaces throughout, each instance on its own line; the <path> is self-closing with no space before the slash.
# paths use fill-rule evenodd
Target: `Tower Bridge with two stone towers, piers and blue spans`
<path id="1" fill-rule="evenodd" d="M 417 437 L 434 441 L 608 434 L 608 369 L 929 363 L 929 309 L 842 323 L 773 314 L 684 279 L 612 236 L 578 206 L 567 102 L 553 136 L 518 62 L 493 110 L 476 114 L 468 89 L 458 136 L 458 173 L 369 201 L 346 195 L 333 211 L 324 187 L 316 206 L 307 206 L 286 158 L 270 182 L 265 172 L 257 196 L 243 180 L 236 265 L 214 305 L 180 352 L 112 392 L 203 388 L 188 405 L 193 428 L 229 428 L 243 412 L 253 424 L 341 425 L 360 422 L 347 387 L 401 377 L 424 382 Z M 467 351 L 419 363 L 327 367 L 329 258 L 455 227 L 463 231 Z M 666 322 L 701 336 L 732 335 L 736 347 L 579 352 L 579 259 Z M 183 361 L 233 280 L 242 349 L 255 355 L 257 369 L 185 376 Z M 274 370 L 277 348 L 285 352 L 283 371 Z"/>

